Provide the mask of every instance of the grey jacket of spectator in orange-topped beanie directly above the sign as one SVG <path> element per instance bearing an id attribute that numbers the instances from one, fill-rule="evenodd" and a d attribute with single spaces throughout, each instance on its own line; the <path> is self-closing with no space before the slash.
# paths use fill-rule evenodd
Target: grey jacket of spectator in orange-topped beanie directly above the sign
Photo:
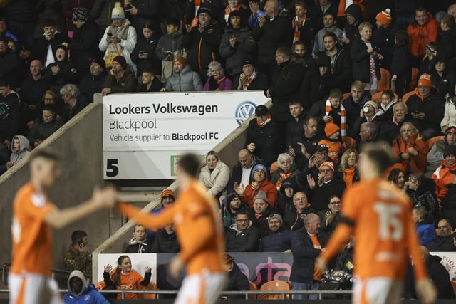
<path id="1" fill-rule="evenodd" d="M 172 92 L 194 92 L 202 90 L 202 82 L 198 73 L 185 65 L 179 73 L 172 72 L 171 77 L 166 80 L 165 88 Z"/>

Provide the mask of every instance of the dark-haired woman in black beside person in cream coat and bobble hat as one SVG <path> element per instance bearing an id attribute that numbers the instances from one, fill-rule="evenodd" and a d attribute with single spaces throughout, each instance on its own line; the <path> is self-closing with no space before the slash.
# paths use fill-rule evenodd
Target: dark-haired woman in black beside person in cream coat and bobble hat
<path id="1" fill-rule="evenodd" d="M 151 2 L 151 0 L 137 1 Z M 127 1 L 125 1 L 125 3 L 127 3 Z M 130 10 L 133 11 L 133 8 Z M 141 35 L 138 37 L 135 48 L 130 54 L 131 61 L 136 65 L 136 75 L 138 75 L 139 85 L 141 85 L 141 76 L 144 70 L 152 70 L 155 75 L 160 75 L 162 72 L 161 62 L 155 54 L 159 36 L 154 28 L 154 22 L 146 21 L 141 26 Z"/>

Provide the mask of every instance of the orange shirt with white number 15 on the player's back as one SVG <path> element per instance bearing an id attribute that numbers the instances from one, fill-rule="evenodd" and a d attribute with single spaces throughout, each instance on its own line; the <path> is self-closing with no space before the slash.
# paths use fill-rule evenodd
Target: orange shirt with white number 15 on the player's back
<path id="1" fill-rule="evenodd" d="M 408 238 L 416 234 L 408 196 L 390 182 L 361 182 L 347 190 L 342 214 L 354 223 L 356 274 L 403 279 Z"/>

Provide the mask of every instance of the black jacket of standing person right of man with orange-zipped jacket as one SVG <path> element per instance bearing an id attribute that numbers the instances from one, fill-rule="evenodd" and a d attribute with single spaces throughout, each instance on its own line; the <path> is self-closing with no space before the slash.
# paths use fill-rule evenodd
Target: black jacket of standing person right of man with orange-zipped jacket
<path id="1" fill-rule="evenodd" d="M 230 38 L 236 38 L 236 44 L 229 44 Z M 220 41 L 219 53 L 222 58 L 226 59 L 226 74 L 237 75 L 242 73 L 242 63 L 248 58 L 252 58 L 255 51 L 256 43 L 250 36 L 248 28 L 232 28 L 229 26 L 222 35 Z"/>

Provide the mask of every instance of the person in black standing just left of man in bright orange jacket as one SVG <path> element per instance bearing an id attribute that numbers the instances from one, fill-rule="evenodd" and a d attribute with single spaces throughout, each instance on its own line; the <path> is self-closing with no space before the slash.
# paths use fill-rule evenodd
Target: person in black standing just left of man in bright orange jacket
<path id="1" fill-rule="evenodd" d="M 412 80 L 412 55 L 408 48 L 409 38 L 406 31 L 400 30 L 394 36 L 394 51 L 391 61 L 390 74 L 395 92 L 399 98 L 408 93 Z"/>

